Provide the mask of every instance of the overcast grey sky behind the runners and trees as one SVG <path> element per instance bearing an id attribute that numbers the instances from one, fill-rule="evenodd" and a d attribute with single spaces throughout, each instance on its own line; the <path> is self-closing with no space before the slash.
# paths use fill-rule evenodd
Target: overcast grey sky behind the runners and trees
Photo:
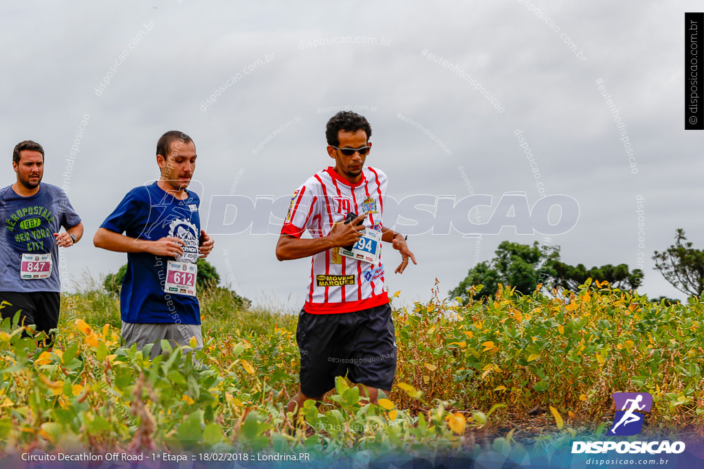
<path id="1" fill-rule="evenodd" d="M 448 214 L 442 202 L 410 212 L 420 214 L 422 234 L 401 219 L 396 231 L 412 233 L 418 265 L 398 276 L 391 273 L 398 253 L 386 248 L 384 259 L 386 284 L 407 304 L 427 300 L 435 278 L 446 295 L 507 239 L 559 245 L 570 264 L 634 269 L 642 262 L 639 291 L 651 297 L 683 296 L 650 260 L 672 244 L 675 229 L 704 248 L 704 133 L 684 131 L 683 108 L 684 12 L 700 11 L 700 1 L 23 1 L 0 8 L 0 185 L 15 181 L 15 144 L 42 143 L 44 181 L 68 186 L 86 229 L 66 251 L 73 281 L 126 262 L 94 248 L 92 236 L 130 188 L 158 179 L 156 141 L 178 129 L 198 150 L 191 187 L 201 196 L 203 227 L 222 233 L 213 235 L 208 260 L 241 295 L 298 310 L 310 260 L 278 262 L 277 228 L 234 233 L 246 210 L 230 207 L 218 217 L 215 209 L 290 198 L 333 162 L 325 123 L 341 109 L 370 121 L 367 165 L 386 172 L 394 199 L 491 196 L 490 207 L 471 213 Z M 440 234 L 449 216 L 491 226 L 506 193 L 524 193 L 530 207 L 541 195 L 574 200 L 574 227 L 549 238 L 511 226 L 481 238 Z M 279 218 L 282 200 L 273 205 Z M 537 220 L 536 210 L 527 220 L 519 208 L 508 215 L 522 227 L 570 221 L 557 207 L 549 221 Z"/>

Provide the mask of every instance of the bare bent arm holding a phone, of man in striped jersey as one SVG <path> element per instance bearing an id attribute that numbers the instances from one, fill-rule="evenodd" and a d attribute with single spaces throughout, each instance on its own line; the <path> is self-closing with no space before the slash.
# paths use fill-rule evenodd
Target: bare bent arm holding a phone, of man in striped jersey
<path id="1" fill-rule="evenodd" d="M 366 215 L 360 215 L 349 224 L 337 224 L 337 229 L 322 238 L 300 239 L 282 234 L 276 244 L 276 258 L 279 261 L 290 261 L 310 257 L 330 248 L 353 245 L 362 237 L 360 231 L 363 226 L 359 229 L 356 229 L 356 226 L 365 217 Z"/>

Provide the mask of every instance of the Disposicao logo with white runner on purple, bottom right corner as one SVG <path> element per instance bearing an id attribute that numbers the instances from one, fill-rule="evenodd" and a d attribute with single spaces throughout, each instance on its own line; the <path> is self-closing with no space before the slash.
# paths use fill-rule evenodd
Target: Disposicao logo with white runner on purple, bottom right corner
<path id="1" fill-rule="evenodd" d="M 653 396 L 648 392 L 615 392 L 611 394 L 616 406 L 614 422 L 605 436 L 632 437 L 643 429 L 645 413 L 653 406 Z M 679 454 L 685 449 L 684 442 L 572 442 L 572 454 L 604 454 L 616 451 L 624 454 Z"/>

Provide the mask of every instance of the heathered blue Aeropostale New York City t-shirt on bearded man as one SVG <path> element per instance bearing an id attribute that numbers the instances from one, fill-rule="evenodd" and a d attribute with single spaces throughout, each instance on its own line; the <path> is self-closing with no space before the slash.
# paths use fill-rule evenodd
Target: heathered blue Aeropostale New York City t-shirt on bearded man
<path id="1" fill-rule="evenodd" d="M 58 246 L 54 233 L 81 222 L 66 194 L 51 184 L 23 197 L 12 186 L 0 189 L 0 291 L 61 292 Z M 49 278 L 21 278 L 23 254 L 51 254 Z"/>

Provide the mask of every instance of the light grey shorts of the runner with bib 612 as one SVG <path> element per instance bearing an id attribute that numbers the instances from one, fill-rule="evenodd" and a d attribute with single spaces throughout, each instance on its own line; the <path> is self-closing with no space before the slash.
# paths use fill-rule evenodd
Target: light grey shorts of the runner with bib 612
<path id="1" fill-rule="evenodd" d="M 154 344 L 151 349 L 151 358 L 161 354 L 162 339 L 171 342 L 171 345 L 189 345 L 191 337 L 196 337 L 196 350 L 203 348 L 203 335 L 201 326 L 197 324 L 174 324 L 174 323 L 126 323 L 122 321 L 122 345 L 132 347 L 137 344 L 137 350 L 141 350 L 147 344 Z M 155 343 L 156 342 L 156 343 Z"/>

